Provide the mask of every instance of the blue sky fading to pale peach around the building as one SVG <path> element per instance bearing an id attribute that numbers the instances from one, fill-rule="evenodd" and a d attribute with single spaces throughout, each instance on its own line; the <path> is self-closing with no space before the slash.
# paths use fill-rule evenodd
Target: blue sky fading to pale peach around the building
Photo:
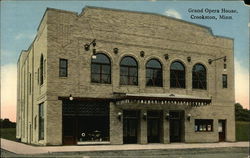
<path id="1" fill-rule="evenodd" d="M 214 35 L 234 39 L 235 96 L 249 108 L 249 8 L 240 1 L 1 1 L 1 118 L 16 120 L 16 63 L 21 50 L 32 43 L 46 10 L 57 8 L 81 13 L 85 6 L 157 13 L 208 26 Z M 204 13 L 190 13 L 202 9 Z M 207 9 L 206 9 L 207 8 Z M 224 13 L 231 20 L 192 19 L 191 15 L 216 16 L 205 10 L 235 9 Z"/>

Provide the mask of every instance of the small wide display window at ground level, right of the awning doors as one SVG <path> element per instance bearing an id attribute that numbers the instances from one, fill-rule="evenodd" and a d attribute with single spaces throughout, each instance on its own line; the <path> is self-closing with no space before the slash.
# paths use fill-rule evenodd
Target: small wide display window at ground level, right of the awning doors
<path id="1" fill-rule="evenodd" d="M 195 119 L 195 132 L 212 132 L 213 120 Z"/>

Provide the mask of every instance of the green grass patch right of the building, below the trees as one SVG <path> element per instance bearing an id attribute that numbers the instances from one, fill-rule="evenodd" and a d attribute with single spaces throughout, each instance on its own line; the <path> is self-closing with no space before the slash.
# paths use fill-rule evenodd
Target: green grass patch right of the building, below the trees
<path id="1" fill-rule="evenodd" d="M 237 141 L 250 140 L 250 122 L 236 121 L 236 140 Z"/>

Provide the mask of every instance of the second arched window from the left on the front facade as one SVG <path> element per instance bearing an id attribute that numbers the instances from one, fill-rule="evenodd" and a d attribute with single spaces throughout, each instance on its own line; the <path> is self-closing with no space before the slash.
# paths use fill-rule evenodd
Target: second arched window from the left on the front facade
<path id="1" fill-rule="evenodd" d="M 133 57 L 126 56 L 121 60 L 120 84 L 138 85 L 138 66 Z"/>

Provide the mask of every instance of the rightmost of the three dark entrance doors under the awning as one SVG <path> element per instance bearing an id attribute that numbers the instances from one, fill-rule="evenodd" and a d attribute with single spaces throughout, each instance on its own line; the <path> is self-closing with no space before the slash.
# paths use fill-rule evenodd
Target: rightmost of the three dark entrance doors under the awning
<path id="1" fill-rule="evenodd" d="M 181 142 L 181 134 L 183 130 L 183 112 L 169 112 L 170 120 L 170 142 Z"/>

